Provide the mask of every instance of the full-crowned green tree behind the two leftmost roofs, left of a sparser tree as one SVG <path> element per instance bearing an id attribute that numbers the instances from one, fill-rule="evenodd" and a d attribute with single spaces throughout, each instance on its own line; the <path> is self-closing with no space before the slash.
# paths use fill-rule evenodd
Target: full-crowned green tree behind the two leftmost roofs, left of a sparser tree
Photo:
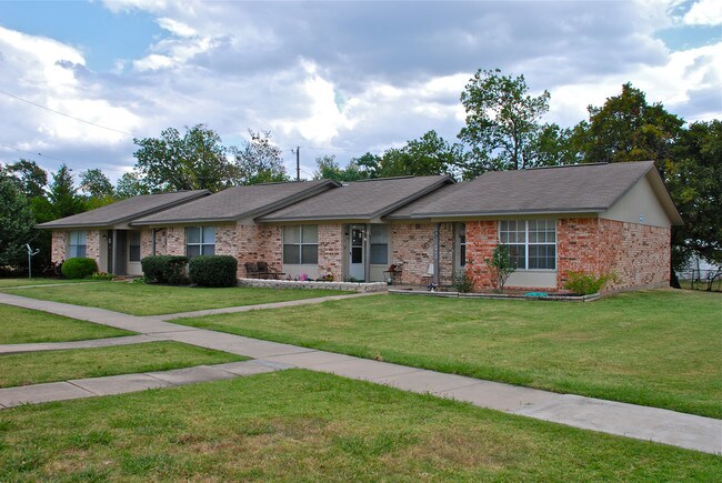
<path id="1" fill-rule="evenodd" d="M 140 148 L 133 153 L 139 179 L 151 192 L 201 190 L 218 191 L 233 184 L 235 167 L 227 158 L 220 135 L 197 124 L 181 137 L 169 128 L 160 139 L 133 139 Z"/>

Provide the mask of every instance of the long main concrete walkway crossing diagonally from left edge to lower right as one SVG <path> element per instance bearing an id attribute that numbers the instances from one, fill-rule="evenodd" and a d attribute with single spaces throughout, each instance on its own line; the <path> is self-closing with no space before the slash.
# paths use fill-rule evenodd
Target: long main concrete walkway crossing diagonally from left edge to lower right
<path id="1" fill-rule="evenodd" d="M 530 388 L 427 371 L 387 362 L 261 341 L 222 332 L 137 318 L 101 309 L 26 299 L 0 293 L 0 303 L 60 313 L 76 319 L 140 332 L 258 359 L 258 363 L 284 364 L 372 381 L 404 391 L 431 393 L 512 414 L 553 421 L 574 427 L 654 441 L 706 453 L 722 454 L 722 420 L 658 407 L 556 394 Z M 257 305 L 257 309 L 259 306 Z M 257 310 L 254 309 L 254 310 Z M 0 404 L 2 404 L 0 402 Z"/>

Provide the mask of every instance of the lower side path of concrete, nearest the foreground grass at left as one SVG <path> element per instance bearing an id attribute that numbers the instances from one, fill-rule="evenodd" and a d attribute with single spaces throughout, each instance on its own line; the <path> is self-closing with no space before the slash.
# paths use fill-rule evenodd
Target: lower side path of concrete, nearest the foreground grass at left
<path id="1" fill-rule="evenodd" d="M 197 382 L 262 374 L 287 368 L 283 364 L 263 363 L 262 361 L 241 361 L 217 365 L 197 365 L 171 371 L 76 379 L 63 382 L 6 388 L 0 389 L 0 409 L 21 404 L 124 394 L 147 389 L 173 388 Z"/>

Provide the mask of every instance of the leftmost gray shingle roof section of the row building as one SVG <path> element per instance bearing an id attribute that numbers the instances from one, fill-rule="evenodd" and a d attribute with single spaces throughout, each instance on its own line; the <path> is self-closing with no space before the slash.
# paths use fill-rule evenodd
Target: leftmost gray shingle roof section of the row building
<path id="1" fill-rule="evenodd" d="M 107 207 L 41 223 L 38 228 L 110 227 L 159 210 L 177 207 L 210 194 L 208 190 L 178 191 L 174 193 L 144 194 Z"/>

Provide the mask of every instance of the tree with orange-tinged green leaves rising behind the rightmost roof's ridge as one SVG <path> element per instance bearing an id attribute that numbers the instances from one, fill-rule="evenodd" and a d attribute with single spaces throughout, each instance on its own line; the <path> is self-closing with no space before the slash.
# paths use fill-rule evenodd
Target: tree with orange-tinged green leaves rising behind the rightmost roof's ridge
<path id="1" fill-rule="evenodd" d="M 661 103 L 650 105 L 629 82 L 619 95 L 588 111 L 589 122 L 578 124 L 573 137 L 584 162 L 652 160 L 663 169 L 684 124 Z"/>

